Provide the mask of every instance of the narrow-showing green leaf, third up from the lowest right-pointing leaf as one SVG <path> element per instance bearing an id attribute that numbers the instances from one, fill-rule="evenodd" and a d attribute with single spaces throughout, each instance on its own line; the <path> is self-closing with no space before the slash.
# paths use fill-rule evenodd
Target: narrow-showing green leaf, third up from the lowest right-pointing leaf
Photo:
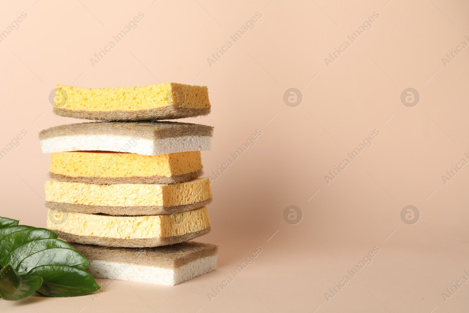
<path id="1" fill-rule="evenodd" d="M 0 245 L 1 248 L 1 245 Z M 33 253 L 53 248 L 64 248 L 75 250 L 70 244 L 60 239 L 39 239 L 17 247 L 5 258 L 5 264 L 10 264 L 16 268 L 18 264 Z"/>

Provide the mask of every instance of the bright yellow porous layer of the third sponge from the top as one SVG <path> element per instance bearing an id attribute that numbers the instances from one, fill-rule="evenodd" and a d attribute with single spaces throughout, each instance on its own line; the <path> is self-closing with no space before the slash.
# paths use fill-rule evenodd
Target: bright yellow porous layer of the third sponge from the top
<path id="1" fill-rule="evenodd" d="M 199 151 L 140 155 L 112 152 L 52 153 L 50 173 L 72 177 L 183 175 L 202 168 Z"/>

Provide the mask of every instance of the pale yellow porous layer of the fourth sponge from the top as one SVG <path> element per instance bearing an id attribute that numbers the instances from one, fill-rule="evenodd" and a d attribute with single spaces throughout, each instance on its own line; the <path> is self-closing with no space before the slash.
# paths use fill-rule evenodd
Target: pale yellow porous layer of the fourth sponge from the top
<path id="1" fill-rule="evenodd" d="M 208 177 L 176 184 L 45 183 L 45 200 L 89 206 L 178 206 L 212 198 Z"/>

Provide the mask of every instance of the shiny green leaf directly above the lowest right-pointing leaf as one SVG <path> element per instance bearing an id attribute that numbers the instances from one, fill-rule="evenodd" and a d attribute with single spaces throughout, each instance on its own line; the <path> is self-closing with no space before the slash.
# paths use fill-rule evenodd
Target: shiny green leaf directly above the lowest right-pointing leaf
<path id="1" fill-rule="evenodd" d="M 76 250 L 53 248 L 36 252 L 24 258 L 16 267 L 18 273 L 27 273 L 34 267 L 42 265 L 66 265 L 86 269 L 90 261 Z"/>

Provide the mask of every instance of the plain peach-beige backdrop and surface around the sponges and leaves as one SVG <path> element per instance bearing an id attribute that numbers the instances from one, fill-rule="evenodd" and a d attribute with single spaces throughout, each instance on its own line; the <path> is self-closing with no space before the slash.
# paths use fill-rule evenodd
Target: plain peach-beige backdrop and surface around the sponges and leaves
<path id="1" fill-rule="evenodd" d="M 467 312 L 469 282 L 446 302 L 442 292 L 469 279 L 469 166 L 446 184 L 441 176 L 469 161 L 469 48 L 446 67 L 441 59 L 469 44 L 469 4 L 387 1 L 2 1 L 0 31 L 27 17 L 0 43 L 0 148 L 28 135 L 0 160 L 1 216 L 45 226 L 50 155 L 38 131 L 77 122 L 52 114 L 55 84 L 207 85 L 212 113 L 184 120 L 215 126 L 207 174 L 262 135 L 212 184 L 212 232 L 199 240 L 219 244 L 216 271 L 175 287 L 98 280 L 106 289 L 98 298 L 0 300 L 1 310 Z M 139 12 L 137 28 L 93 67 L 94 53 Z M 233 43 L 256 12 L 254 29 Z M 371 29 L 327 67 L 373 12 Z M 227 40 L 233 46 L 210 66 Z M 303 94 L 298 107 L 284 103 L 288 88 Z M 420 94 L 415 107 L 401 103 L 406 88 Z M 372 145 L 327 184 L 375 129 Z M 283 218 L 290 205 L 303 212 L 299 224 Z M 421 214 L 414 225 L 401 220 L 407 205 Z M 258 246 L 255 263 L 210 301 Z M 372 263 L 328 302 L 325 292 L 375 246 Z"/>

